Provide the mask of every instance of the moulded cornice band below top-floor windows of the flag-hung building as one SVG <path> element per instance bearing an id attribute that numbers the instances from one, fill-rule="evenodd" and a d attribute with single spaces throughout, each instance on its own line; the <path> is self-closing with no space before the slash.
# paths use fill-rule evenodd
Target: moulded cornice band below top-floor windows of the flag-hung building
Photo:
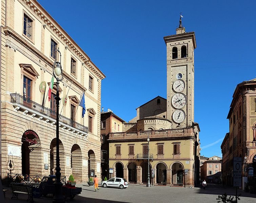
<path id="1" fill-rule="evenodd" d="M 47 63 L 50 67 L 53 66 L 53 61 L 50 60 L 49 58 L 47 58 L 43 53 L 41 53 L 41 51 L 39 51 L 37 48 L 35 48 L 34 46 L 32 46 L 31 44 L 27 43 L 25 39 L 23 39 L 17 32 L 15 32 L 13 29 L 11 29 L 8 26 L 3 27 L 3 31 L 5 33 L 6 36 L 12 36 L 15 40 L 17 40 L 18 42 L 20 42 L 21 44 L 23 44 L 24 46 L 26 46 L 27 49 L 31 50 L 32 52 L 34 52 L 36 55 L 39 56 L 39 58 L 41 58 L 45 63 Z M 8 43 L 6 43 L 5 46 L 11 46 Z M 79 82 L 77 82 L 76 80 L 74 80 L 74 78 L 72 78 L 72 76 L 70 76 L 67 72 L 65 72 L 63 70 L 63 76 L 69 80 L 69 81 L 73 81 L 73 84 L 76 85 L 78 88 L 80 88 L 82 91 L 86 91 L 87 89 L 81 85 Z"/>

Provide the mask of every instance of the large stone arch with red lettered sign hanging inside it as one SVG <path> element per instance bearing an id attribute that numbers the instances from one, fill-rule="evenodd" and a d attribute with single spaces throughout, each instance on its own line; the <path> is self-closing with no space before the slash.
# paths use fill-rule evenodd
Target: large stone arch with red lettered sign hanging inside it
<path id="1" fill-rule="evenodd" d="M 41 175 L 38 162 L 42 163 L 41 140 L 33 130 L 26 130 L 21 137 L 21 165 L 22 175 Z M 11 162 L 11 160 L 10 160 Z"/>

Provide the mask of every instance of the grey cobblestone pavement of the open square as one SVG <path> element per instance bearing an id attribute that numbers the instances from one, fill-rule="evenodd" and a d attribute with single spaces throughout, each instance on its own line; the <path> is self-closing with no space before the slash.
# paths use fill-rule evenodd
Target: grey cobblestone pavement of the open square
<path id="1" fill-rule="evenodd" d="M 71 203 L 217 203 L 218 195 L 227 193 L 228 195 L 235 195 L 235 189 L 230 187 L 223 187 L 221 185 L 208 184 L 206 190 L 201 188 L 182 188 L 182 187 L 166 187 L 166 186 L 152 186 L 145 187 L 145 185 L 130 184 L 126 189 L 119 188 L 101 188 L 99 192 L 94 191 L 94 186 L 86 184 L 77 184 L 82 187 L 82 193 L 76 196 Z M 4 187 L 6 188 L 6 187 Z M 241 200 L 238 203 L 255 203 L 256 195 L 241 193 Z M 12 192 L 6 192 L 6 203 L 26 203 L 27 196 L 19 195 L 18 199 L 11 200 Z M 35 203 L 52 202 L 52 199 L 34 199 Z"/>

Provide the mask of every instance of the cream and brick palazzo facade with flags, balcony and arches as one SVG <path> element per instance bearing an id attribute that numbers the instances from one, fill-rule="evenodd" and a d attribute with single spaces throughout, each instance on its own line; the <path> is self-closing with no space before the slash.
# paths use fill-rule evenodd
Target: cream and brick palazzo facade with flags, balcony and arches
<path id="1" fill-rule="evenodd" d="M 100 176 L 101 80 L 105 75 L 35 0 L 1 1 L 1 176 L 49 175 L 56 157 L 56 80 L 59 48 L 61 175 L 77 182 Z M 86 112 L 79 106 L 85 92 Z"/>

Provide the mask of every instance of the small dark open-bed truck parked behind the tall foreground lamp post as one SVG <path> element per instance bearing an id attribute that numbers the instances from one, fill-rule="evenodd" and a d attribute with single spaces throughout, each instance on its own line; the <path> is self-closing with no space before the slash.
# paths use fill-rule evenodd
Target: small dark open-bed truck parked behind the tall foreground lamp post
<path id="1" fill-rule="evenodd" d="M 51 176 L 44 176 L 41 183 L 39 184 L 39 188 L 42 191 L 43 196 L 52 195 L 54 196 L 54 182 L 56 180 L 55 175 Z M 69 197 L 73 199 L 76 195 L 81 194 L 82 188 L 81 187 L 70 187 L 67 185 L 62 185 L 62 194 L 63 196 Z"/>

